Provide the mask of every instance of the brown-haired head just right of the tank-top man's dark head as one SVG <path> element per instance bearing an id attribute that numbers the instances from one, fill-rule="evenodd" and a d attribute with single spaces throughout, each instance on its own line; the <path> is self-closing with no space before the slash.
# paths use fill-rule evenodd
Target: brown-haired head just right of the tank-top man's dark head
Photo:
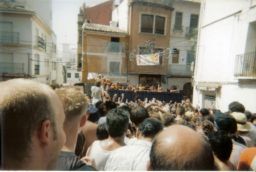
<path id="1" fill-rule="evenodd" d="M 135 106 L 131 110 L 131 122 L 133 122 L 135 125 L 139 125 L 142 123 L 146 118 L 149 118 L 149 112 L 147 109 L 141 105 Z"/>

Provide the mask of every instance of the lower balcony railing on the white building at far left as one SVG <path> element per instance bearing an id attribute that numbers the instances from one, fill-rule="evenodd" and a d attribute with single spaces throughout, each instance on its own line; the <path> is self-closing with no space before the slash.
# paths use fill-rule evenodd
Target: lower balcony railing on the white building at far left
<path id="1" fill-rule="evenodd" d="M 0 62 L 0 73 L 2 74 L 23 74 L 24 63 Z"/>

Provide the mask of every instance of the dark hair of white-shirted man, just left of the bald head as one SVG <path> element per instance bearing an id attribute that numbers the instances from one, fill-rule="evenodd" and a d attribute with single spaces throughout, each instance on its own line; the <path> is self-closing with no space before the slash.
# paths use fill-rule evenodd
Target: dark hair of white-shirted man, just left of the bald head
<path id="1" fill-rule="evenodd" d="M 157 133 L 163 130 L 163 124 L 158 119 L 147 118 L 139 125 L 138 130 L 141 131 L 143 137 L 154 138 Z"/>

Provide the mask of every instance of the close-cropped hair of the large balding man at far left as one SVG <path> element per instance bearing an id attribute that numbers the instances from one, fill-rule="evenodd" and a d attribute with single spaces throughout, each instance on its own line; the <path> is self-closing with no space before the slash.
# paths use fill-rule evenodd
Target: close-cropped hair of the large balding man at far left
<path id="1" fill-rule="evenodd" d="M 58 139 L 53 97 L 50 86 L 30 79 L 10 79 L 0 83 L 2 112 L 2 155 L 18 158 L 19 163 L 30 157 L 32 137 L 47 119 L 54 139 Z M 11 135 L 10 135 L 11 134 Z"/>

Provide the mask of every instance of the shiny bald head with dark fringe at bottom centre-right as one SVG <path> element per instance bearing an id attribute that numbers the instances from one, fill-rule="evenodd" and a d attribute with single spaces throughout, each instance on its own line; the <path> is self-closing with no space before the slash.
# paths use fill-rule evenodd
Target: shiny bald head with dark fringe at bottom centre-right
<path id="1" fill-rule="evenodd" d="M 182 125 L 167 127 L 155 138 L 150 163 L 155 171 L 214 170 L 210 143 Z"/>

